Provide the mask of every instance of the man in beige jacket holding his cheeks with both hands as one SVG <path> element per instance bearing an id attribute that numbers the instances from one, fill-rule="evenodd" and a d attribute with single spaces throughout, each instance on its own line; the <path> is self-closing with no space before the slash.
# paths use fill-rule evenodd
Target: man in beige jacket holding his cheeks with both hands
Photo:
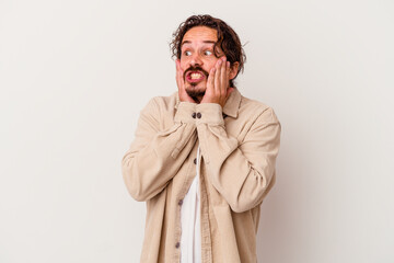
<path id="1" fill-rule="evenodd" d="M 188 18 L 174 33 L 172 50 L 177 92 L 153 98 L 141 111 L 121 161 L 130 195 L 147 202 L 141 262 L 257 262 L 278 118 L 234 85 L 245 56 L 223 21 Z"/>

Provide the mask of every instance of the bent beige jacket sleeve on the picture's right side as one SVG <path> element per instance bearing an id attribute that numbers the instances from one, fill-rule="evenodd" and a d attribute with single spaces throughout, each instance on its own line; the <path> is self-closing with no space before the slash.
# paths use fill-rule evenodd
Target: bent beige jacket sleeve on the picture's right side
<path id="1" fill-rule="evenodd" d="M 254 112 L 240 144 L 225 132 L 219 104 L 199 104 L 196 111 L 201 114 L 197 134 L 211 184 L 235 213 L 259 205 L 275 182 L 281 126 L 274 111 Z"/>

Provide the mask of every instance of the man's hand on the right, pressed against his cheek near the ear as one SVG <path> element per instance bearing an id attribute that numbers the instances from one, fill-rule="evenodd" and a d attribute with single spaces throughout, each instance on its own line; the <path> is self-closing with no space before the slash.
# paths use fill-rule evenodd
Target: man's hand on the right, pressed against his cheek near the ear
<path id="1" fill-rule="evenodd" d="M 218 59 L 209 72 L 207 90 L 201 103 L 218 103 L 223 107 L 230 93 L 234 91 L 234 88 L 229 87 L 229 77 L 230 62 L 227 61 L 225 56 L 223 56 Z"/>

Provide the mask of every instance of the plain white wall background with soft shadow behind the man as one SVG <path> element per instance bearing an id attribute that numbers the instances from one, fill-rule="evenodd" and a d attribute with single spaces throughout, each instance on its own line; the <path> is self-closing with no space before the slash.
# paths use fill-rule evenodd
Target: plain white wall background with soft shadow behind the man
<path id="1" fill-rule="evenodd" d="M 239 90 L 282 125 L 259 262 L 394 262 L 393 1 L 0 0 L 1 263 L 139 262 L 120 161 L 199 13 L 239 33 Z"/>

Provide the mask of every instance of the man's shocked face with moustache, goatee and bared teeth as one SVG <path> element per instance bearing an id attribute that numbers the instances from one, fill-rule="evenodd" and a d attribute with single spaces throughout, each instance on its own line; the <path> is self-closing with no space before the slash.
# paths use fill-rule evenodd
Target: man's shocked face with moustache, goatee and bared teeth
<path id="1" fill-rule="evenodd" d="M 181 69 L 184 70 L 186 92 L 192 98 L 204 96 L 209 71 L 218 57 L 213 45 L 218 41 L 217 31 L 207 26 L 195 26 L 186 32 L 181 46 Z M 219 56 L 223 56 L 218 49 Z"/>

